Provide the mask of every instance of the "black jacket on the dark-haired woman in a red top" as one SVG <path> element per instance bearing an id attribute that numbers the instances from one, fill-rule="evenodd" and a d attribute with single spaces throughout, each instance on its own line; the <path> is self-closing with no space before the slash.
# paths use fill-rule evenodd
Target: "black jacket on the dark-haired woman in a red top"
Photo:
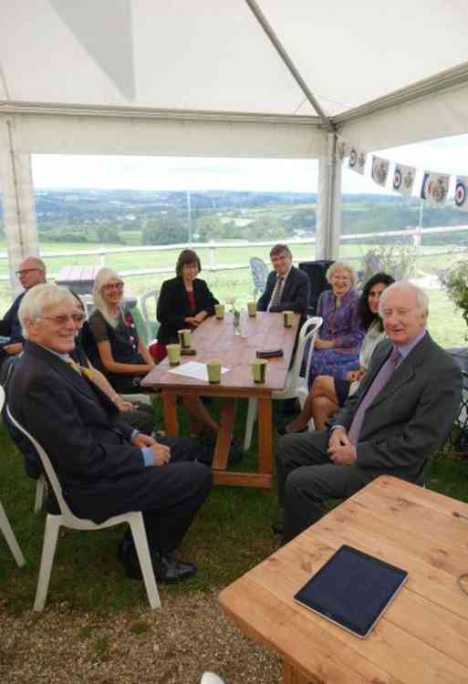
<path id="1" fill-rule="evenodd" d="M 208 316 L 213 316 L 214 305 L 218 304 L 218 300 L 212 295 L 204 280 L 200 278 L 193 280 L 193 294 L 196 303 L 194 312 L 191 311 L 189 296 L 181 276 L 178 275 L 162 283 L 156 311 L 156 317 L 161 323 L 158 330 L 158 342 L 163 345 L 177 342 L 177 331 L 187 327 L 185 318 L 188 316 L 195 316 L 201 311 L 206 311 Z"/>

